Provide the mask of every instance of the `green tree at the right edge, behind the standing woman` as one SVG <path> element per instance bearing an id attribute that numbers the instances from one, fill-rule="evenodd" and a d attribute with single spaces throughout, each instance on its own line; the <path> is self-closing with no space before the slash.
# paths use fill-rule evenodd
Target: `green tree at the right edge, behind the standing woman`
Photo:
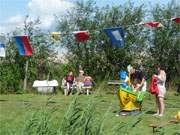
<path id="1" fill-rule="evenodd" d="M 174 81 L 180 76 L 180 26 L 170 20 L 179 15 L 180 6 L 175 1 L 152 9 L 153 19 L 161 22 L 164 27 L 152 31 L 149 51 L 152 62 L 164 67 L 168 81 Z"/>

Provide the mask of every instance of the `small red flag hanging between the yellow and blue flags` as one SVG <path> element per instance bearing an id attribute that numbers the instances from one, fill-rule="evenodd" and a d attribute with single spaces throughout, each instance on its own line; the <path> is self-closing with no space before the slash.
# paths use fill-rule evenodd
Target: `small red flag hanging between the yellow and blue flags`
<path id="1" fill-rule="evenodd" d="M 75 31 L 74 35 L 77 42 L 85 42 L 89 39 L 89 33 L 87 31 Z"/>

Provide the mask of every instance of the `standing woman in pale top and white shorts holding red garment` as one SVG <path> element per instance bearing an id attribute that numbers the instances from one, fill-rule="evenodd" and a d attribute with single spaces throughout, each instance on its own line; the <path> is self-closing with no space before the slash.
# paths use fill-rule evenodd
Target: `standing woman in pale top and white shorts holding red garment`
<path id="1" fill-rule="evenodd" d="M 157 87 L 159 89 L 158 95 L 156 95 L 156 108 L 157 112 L 154 114 L 155 116 L 163 116 L 165 104 L 164 104 L 164 96 L 166 94 L 166 73 L 160 67 L 157 67 L 158 75 L 154 75 L 157 77 Z"/>

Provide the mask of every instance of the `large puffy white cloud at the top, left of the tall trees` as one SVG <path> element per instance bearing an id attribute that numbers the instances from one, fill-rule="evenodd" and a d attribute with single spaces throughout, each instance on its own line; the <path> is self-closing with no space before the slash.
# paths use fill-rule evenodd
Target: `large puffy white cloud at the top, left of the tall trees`
<path id="1" fill-rule="evenodd" d="M 45 29 L 54 24 L 54 15 L 64 15 L 73 6 L 65 0 L 31 0 L 28 3 L 30 15 L 40 17 L 41 27 Z"/>

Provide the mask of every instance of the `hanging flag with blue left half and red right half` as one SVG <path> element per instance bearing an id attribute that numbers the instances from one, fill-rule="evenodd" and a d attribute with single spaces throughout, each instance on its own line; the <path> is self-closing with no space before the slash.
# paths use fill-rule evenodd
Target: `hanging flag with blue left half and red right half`
<path id="1" fill-rule="evenodd" d="M 32 55 L 32 48 L 29 43 L 28 36 L 16 36 L 15 40 L 20 55 L 22 56 Z"/>

